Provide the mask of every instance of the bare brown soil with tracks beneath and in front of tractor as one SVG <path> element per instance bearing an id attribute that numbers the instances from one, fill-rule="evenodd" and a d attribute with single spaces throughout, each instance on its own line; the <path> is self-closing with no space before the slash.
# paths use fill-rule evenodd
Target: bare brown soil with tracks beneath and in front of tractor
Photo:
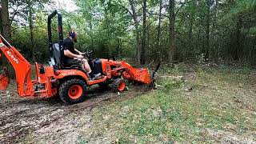
<path id="1" fill-rule="evenodd" d="M 8 90 L 0 91 L 0 143 L 37 143 L 41 138 L 50 143 L 75 143 L 81 132 L 79 127 L 90 128 L 90 110 L 95 106 L 125 101 L 150 91 L 148 86 L 131 86 L 118 94 L 114 90 L 99 92 L 95 86 L 88 90 L 85 102 L 70 106 L 59 98 L 19 98 L 12 86 L 13 81 Z"/>

